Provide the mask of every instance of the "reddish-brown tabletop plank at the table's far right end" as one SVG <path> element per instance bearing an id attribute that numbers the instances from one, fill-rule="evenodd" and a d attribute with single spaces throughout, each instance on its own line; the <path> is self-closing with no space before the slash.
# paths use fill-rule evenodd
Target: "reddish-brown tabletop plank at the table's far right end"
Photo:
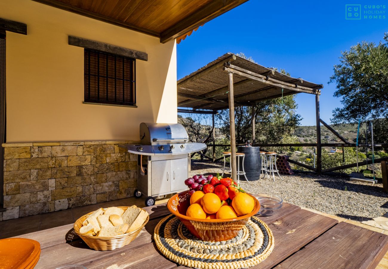
<path id="1" fill-rule="evenodd" d="M 340 222 L 277 267 L 375 268 L 388 251 L 388 236 Z"/>

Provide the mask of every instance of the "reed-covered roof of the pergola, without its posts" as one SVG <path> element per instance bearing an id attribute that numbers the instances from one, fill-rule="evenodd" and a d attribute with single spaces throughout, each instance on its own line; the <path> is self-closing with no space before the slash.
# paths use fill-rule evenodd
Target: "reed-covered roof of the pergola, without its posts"
<path id="1" fill-rule="evenodd" d="M 229 108 L 228 73 L 234 74 L 235 106 L 251 106 L 297 93 L 319 95 L 323 87 L 322 84 L 289 77 L 228 52 L 178 80 L 178 107 L 194 110 Z"/>

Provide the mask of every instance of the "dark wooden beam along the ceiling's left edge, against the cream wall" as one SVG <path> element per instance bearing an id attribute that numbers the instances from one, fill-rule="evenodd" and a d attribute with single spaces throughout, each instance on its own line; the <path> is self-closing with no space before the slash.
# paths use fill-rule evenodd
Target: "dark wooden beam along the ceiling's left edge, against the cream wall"
<path id="1" fill-rule="evenodd" d="M 99 21 L 104 21 L 106 23 L 110 23 L 110 24 L 113 24 L 113 25 L 116 25 L 116 26 L 120 26 L 120 27 L 127 28 L 127 29 L 130 29 L 130 30 L 138 31 L 140 33 L 145 33 L 147 35 L 152 35 L 153 37 L 160 37 L 160 33 L 156 32 L 156 31 L 152 31 L 152 30 L 149 30 L 149 29 L 146 29 L 146 28 L 142 28 L 142 27 L 130 24 L 130 23 L 125 23 L 123 21 L 119 21 L 117 19 L 113 19 L 111 17 L 107 17 L 107 16 L 104 16 L 104 15 L 101 15 L 101 14 L 97 14 L 97 13 L 94 13 L 94 12 L 91 12 L 91 11 L 88 11 L 88 10 L 85 10 L 85 9 L 80 9 L 78 7 L 73 7 L 72 5 L 68 5 L 66 3 L 62 3 L 62 2 L 59 2 L 59 1 L 55 1 L 55 0 L 33 0 L 33 1 L 45 4 L 45 5 L 50 5 L 52 7 L 58 8 L 58 9 L 63 9 L 63 10 L 66 10 L 66 11 L 70 11 L 70 12 L 73 12 L 73 13 L 76 13 L 76 14 L 79 14 L 79 15 L 82 15 L 82 16 L 85 16 L 85 17 L 90 17 L 92 19 L 97 19 Z"/>

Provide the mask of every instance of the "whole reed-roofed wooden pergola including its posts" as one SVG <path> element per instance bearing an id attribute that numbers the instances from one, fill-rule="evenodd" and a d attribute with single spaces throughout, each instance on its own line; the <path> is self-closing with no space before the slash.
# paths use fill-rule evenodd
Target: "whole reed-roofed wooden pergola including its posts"
<path id="1" fill-rule="evenodd" d="M 317 168 L 313 168 L 313 170 L 320 173 L 320 121 L 322 122 L 322 120 L 319 117 L 319 95 L 322 88 L 322 84 L 289 77 L 228 52 L 178 80 L 178 107 L 192 108 L 192 110 L 178 109 L 178 112 L 213 114 L 214 161 L 214 114 L 217 113 L 217 110 L 229 108 L 231 167 L 233 171 L 232 176 L 236 178 L 234 107 L 253 107 L 252 138 L 255 140 L 254 106 L 256 103 L 298 93 L 314 94 L 317 119 Z M 198 109 L 206 109 L 207 111 Z M 299 162 L 298 165 L 306 166 Z M 308 168 L 312 167 L 308 166 Z"/>

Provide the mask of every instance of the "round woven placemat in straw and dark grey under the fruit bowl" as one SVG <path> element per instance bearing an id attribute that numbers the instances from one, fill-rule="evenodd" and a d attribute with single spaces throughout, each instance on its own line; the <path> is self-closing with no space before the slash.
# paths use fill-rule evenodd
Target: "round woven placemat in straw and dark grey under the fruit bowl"
<path id="1" fill-rule="evenodd" d="M 274 249 L 271 230 L 255 216 L 235 238 L 208 242 L 192 236 L 171 214 L 156 225 L 154 239 L 159 251 L 168 259 L 193 268 L 247 268 L 262 262 Z"/>

